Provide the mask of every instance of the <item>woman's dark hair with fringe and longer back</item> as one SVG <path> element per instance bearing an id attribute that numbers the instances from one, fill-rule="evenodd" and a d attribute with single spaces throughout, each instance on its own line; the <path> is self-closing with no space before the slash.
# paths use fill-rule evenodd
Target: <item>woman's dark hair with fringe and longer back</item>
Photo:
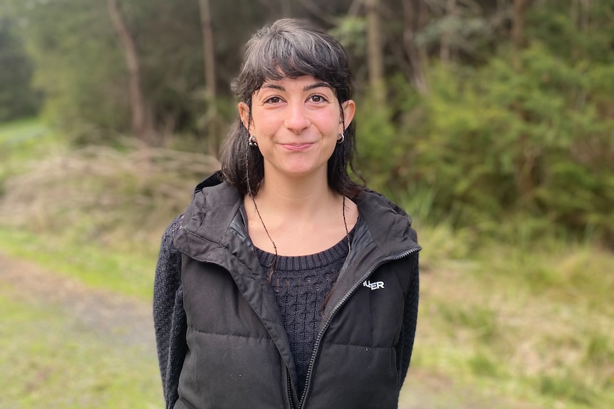
<path id="1" fill-rule="evenodd" d="M 286 18 L 262 28 L 247 42 L 241 73 L 233 88 L 239 101 L 251 110 L 251 95 L 266 80 L 303 75 L 313 75 L 331 85 L 340 105 L 350 100 L 348 57 L 340 43 L 305 21 Z M 341 106 L 340 109 L 343 115 Z M 352 181 L 348 174 L 348 166 L 355 173 L 353 122 L 343 134 L 345 142 L 337 144 L 328 159 L 328 186 L 335 193 L 355 198 L 362 186 Z M 264 158 L 259 149 L 248 146 L 248 138 L 249 132 L 239 120 L 224 144 L 222 177 L 241 193 L 251 191 L 256 195 L 264 179 Z"/>

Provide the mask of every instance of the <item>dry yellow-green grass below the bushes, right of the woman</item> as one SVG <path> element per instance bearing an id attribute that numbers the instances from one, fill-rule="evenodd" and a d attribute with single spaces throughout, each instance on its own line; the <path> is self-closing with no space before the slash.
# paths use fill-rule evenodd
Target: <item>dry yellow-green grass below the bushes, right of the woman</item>
<path id="1" fill-rule="evenodd" d="M 548 238 L 530 250 L 486 241 L 459 262 L 429 243 L 437 232 L 421 231 L 421 262 L 437 267 L 422 274 L 414 368 L 519 407 L 614 407 L 612 253 Z"/>

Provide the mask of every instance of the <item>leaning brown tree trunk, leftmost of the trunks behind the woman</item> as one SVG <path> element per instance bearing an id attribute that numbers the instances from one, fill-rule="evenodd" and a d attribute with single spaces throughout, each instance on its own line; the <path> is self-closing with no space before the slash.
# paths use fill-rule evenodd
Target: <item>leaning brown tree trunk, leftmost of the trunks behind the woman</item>
<path id="1" fill-rule="evenodd" d="M 151 144 L 150 127 L 147 124 L 145 98 L 140 85 L 140 66 L 135 42 L 126 27 L 117 0 L 107 0 L 109 16 L 122 44 L 126 67 L 128 68 L 128 90 L 132 114 L 132 132 L 145 144 Z"/>

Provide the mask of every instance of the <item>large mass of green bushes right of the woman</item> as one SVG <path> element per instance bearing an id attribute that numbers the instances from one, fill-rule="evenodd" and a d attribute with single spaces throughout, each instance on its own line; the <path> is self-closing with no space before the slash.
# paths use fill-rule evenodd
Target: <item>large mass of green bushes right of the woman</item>
<path id="1" fill-rule="evenodd" d="M 359 152 L 375 188 L 425 198 L 427 220 L 491 237 L 526 243 L 558 229 L 614 244 L 614 53 L 600 31 L 612 27 L 591 18 L 580 30 L 555 13 L 569 42 L 535 23 L 526 48 L 501 47 L 488 63 L 434 61 L 428 95 L 392 78 L 396 112 L 361 101 Z M 571 52 L 553 53 L 558 42 Z"/>

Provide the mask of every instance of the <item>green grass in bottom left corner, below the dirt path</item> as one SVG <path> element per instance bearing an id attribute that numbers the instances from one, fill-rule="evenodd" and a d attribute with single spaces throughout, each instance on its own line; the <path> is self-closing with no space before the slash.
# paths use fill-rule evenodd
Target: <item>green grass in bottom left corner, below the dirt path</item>
<path id="1" fill-rule="evenodd" d="M 155 356 L 0 287 L 1 408 L 162 408 Z"/>

